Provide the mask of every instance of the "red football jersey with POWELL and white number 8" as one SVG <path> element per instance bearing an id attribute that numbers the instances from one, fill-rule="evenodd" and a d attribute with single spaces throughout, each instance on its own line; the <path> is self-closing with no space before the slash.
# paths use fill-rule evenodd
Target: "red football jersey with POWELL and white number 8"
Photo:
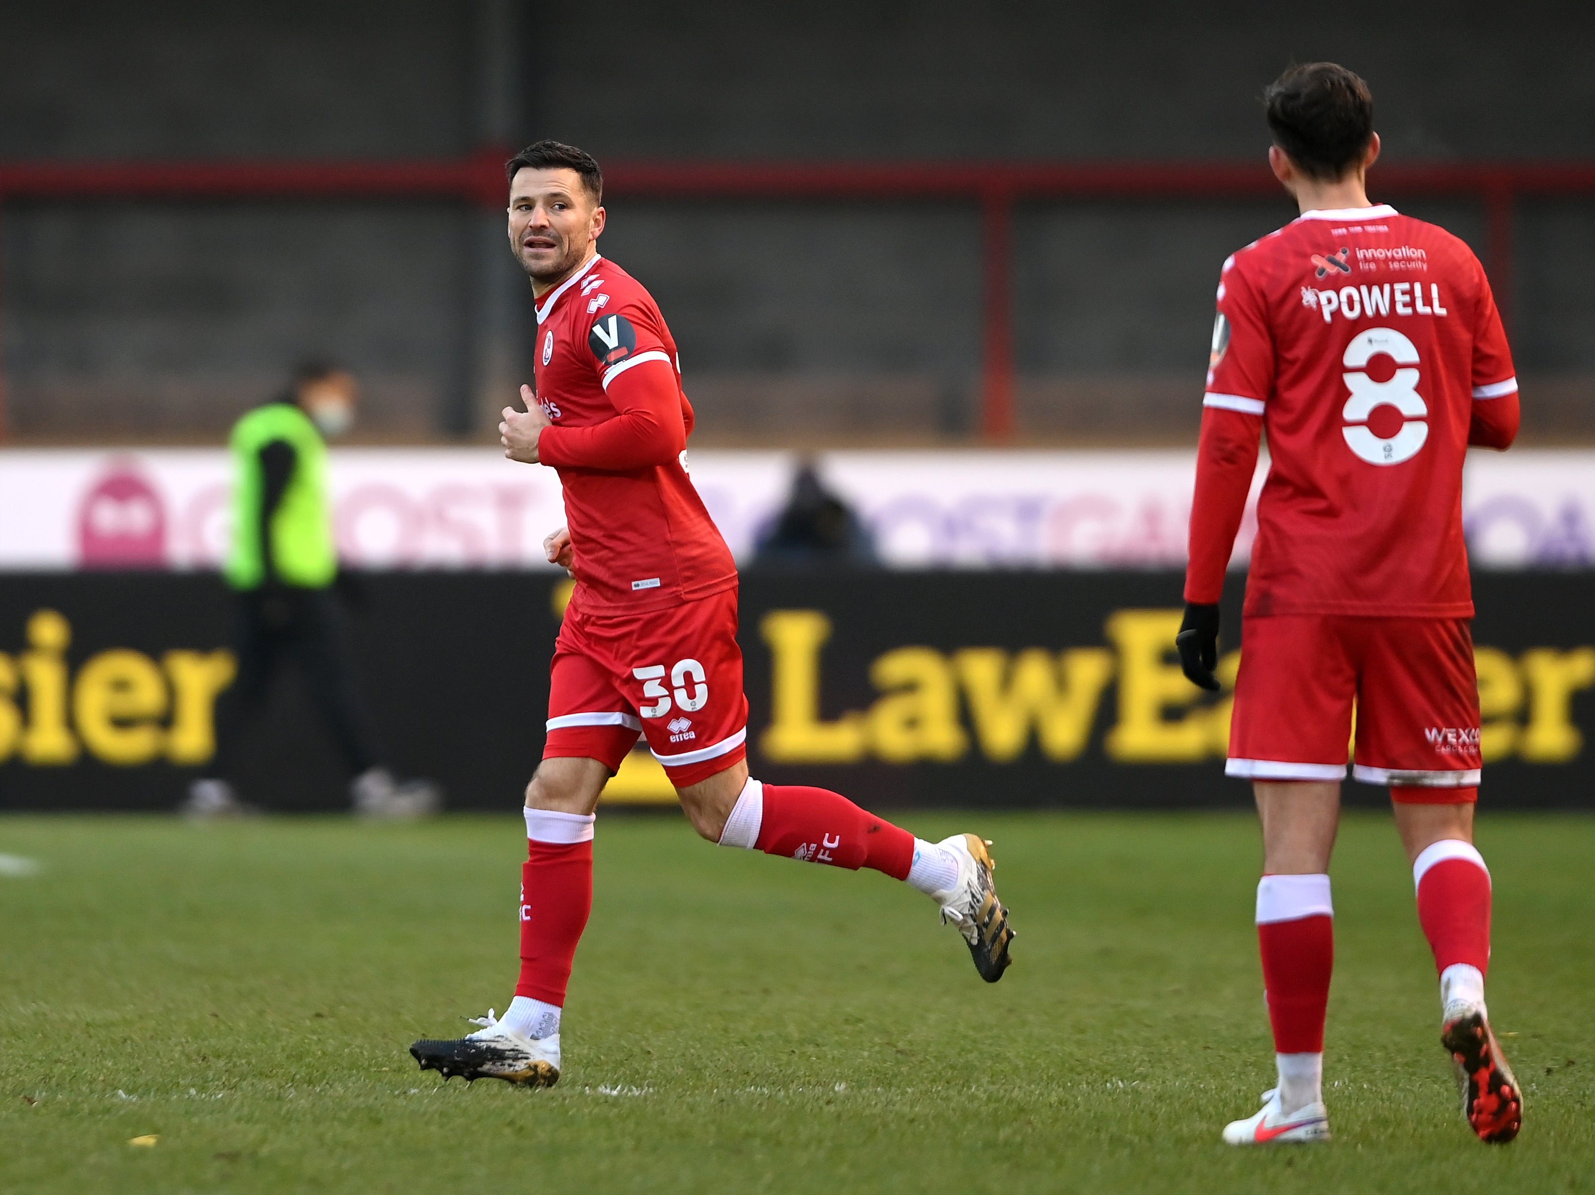
<path id="1" fill-rule="evenodd" d="M 1466 617 L 1474 400 L 1517 392 L 1483 268 L 1388 206 L 1308 212 L 1223 263 L 1204 405 L 1271 457 L 1246 612 Z"/>

